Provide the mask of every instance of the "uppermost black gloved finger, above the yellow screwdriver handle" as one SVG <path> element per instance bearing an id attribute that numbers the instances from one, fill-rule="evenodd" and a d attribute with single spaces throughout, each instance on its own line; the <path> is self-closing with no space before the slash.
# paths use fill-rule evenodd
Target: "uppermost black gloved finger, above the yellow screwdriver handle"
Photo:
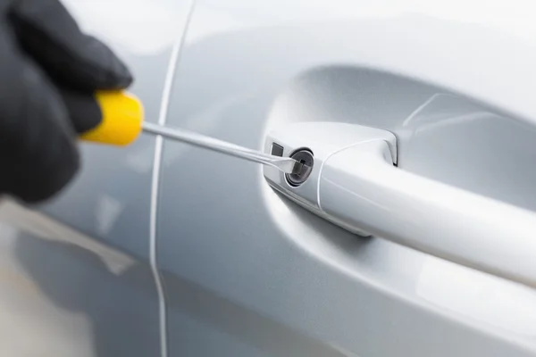
<path id="1" fill-rule="evenodd" d="M 9 19 L 22 48 L 54 82 L 84 91 L 132 83 L 127 66 L 108 46 L 82 33 L 58 0 L 19 0 Z"/>

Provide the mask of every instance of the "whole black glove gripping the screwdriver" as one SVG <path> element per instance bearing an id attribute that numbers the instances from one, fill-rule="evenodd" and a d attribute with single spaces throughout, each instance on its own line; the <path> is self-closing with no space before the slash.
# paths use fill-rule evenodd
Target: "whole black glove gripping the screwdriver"
<path id="1" fill-rule="evenodd" d="M 101 120 L 93 93 L 132 76 L 59 0 L 0 0 L 0 16 L 0 194 L 36 203 L 79 169 L 77 137 Z"/>

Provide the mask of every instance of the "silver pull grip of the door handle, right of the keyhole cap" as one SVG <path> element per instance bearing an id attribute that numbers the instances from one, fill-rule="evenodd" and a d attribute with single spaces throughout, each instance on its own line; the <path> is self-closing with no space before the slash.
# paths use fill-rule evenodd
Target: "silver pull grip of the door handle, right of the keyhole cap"
<path id="1" fill-rule="evenodd" d="M 398 170 L 386 151 L 376 141 L 333 154 L 318 181 L 322 212 L 343 227 L 536 286 L 534 212 Z"/>

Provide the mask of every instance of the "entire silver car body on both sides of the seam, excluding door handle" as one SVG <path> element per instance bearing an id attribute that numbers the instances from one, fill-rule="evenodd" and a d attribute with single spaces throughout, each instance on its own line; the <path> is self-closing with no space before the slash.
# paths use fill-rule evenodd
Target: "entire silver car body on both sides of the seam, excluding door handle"
<path id="1" fill-rule="evenodd" d="M 259 150 L 291 123 L 386 129 L 399 170 L 536 211 L 531 1 L 64 3 L 147 120 Z M 530 283 L 357 237 L 255 163 L 149 136 L 82 152 L 53 202 L 0 211 L 2 355 L 536 353 Z"/>

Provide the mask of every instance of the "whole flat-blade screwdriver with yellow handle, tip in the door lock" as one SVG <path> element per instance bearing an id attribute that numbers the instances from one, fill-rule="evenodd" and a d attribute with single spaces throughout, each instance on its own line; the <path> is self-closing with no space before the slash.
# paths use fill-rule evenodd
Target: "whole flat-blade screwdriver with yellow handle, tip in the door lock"
<path id="1" fill-rule="evenodd" d="M 143 105 L 135 95 L 130 93 L 103 91 L 97 92 L 95 96 L 103 119 L 95 129 L 81 135 L 82 140 L 108 145 L 129 145 L 138 138 L 141 131 L 144 131 L 148 134 L 160 135 L 173 141 L 195 145 L 250 162 L 269 165 L 288 174 L 304 175 L 311 170 L 311 167 L 290 157 L 264 154 L 185 129 L 172 129 L 144 121 Z"/>

